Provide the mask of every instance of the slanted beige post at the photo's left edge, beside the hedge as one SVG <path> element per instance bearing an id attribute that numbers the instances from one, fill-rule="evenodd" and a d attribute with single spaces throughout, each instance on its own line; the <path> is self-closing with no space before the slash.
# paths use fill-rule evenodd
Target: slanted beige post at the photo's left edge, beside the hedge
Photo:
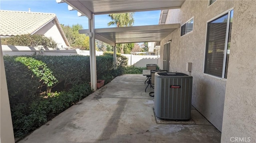
<path id="1" fill-rule="evenodd" d="M 0 143 L 14 143 L 12 117 L 4 69 L 4 57 L 0 39 Z"/>

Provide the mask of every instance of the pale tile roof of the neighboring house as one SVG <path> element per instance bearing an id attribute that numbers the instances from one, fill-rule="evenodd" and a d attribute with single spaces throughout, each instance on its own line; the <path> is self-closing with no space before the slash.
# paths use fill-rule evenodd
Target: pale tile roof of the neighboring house
<path id="1" fill-rule="evenodd" d="M 49 13 L 0 10 L 0 36 L 32 34 L 54 18 Z"/>

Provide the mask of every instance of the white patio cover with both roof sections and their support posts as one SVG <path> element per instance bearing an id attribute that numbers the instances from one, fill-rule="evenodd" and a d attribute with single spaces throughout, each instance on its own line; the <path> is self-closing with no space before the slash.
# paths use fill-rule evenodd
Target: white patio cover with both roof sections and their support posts
<path id="1" fill-rule="evenodd" d="M 185 0 L 56 0 L 68 4 L 68 10 L 77 10 L 78 16 L 86 16 L 89 29 L 80 30 L 90 37 L 90 74 L 92 89 L 96 90 L 96 53 L 95 39 L 114 46 L 114 66 L 116 65 L 116 43 L 136 43 L 161 41 L 174 29 L 173 25 L 148 25 L 95 29 L 94 15 L 123 12 L 177 9 Z M 115 68 L 115 67 L 114 67 Z"/>

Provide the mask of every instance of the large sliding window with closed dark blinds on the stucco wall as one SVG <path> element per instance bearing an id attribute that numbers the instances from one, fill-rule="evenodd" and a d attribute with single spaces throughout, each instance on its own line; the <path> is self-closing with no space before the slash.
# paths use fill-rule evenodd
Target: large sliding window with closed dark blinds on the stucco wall
<path id="1" fill-rule="evenodd" d="M 208 22 L 204 73 L 227 78 L 233 10 Z"/>

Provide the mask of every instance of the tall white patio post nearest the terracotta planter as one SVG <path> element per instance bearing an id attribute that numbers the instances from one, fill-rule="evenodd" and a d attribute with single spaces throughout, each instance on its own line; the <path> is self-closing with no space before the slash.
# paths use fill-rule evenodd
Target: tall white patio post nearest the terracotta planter
<path id="1" fill-rule="evenodd" d="M 94 25 L 94 14 L 89 20 L 89 30 L 91 35 L 90 39 L 90 74 L 91 74 L 91 88 L 92 90 L 97 90 L 97 73 L 96 73 L 96 51 L 95 51 L 95 25 Z"/>

